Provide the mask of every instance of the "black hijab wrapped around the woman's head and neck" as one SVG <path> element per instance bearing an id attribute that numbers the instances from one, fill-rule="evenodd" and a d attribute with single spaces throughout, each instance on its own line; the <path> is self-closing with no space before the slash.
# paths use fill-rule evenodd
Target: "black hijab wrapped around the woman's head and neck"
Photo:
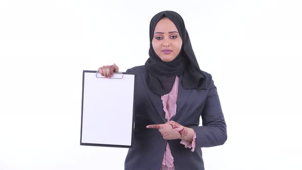
<path id="1" fill-rule="evenodd" d="M 182 38 L 180 53 L 170 62 L 162 61 L 152 46 L 155 27 L 163 17 L 169 18 L 175 24 Z M 207 84 L 193 52 L 182 17 L 174 11 L 159 12 L 151 19 L 149 31 L 149 58 L 145 62 L 148 88 L 159 96 L 165 95 L 171 91 L 176 76 L 183 74 L 184 89 L 206 89 Z"/>

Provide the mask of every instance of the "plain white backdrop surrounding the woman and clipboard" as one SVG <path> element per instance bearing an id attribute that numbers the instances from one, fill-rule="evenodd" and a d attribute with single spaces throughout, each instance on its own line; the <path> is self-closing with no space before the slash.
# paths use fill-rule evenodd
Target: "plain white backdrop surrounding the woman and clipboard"
<path id="1" fill-rule="evenodd" d="M 123 169 L 126 148 L 79 144 L 82 70 L 144 65 L 149 21 L 163 10 L 182 15 L 218 87 L 228 140 L 203 149 L 206 169 L 302 169 L 301 9 L 298 0 L 0 1 L 0 169 Z"/>

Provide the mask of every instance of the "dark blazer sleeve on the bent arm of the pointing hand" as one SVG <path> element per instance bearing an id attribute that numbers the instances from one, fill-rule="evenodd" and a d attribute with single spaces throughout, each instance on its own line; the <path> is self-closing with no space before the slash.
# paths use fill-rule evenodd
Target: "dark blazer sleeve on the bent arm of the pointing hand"
<path id="1" fill-rule="evenodd" d="M 196 133 L 196 147 L 222 145 L 227 140 L 226 123 L 221 109 L 217 88 L 209 74 L 205 107 L 201 113 L 202 126 L 192 126 Z"/>

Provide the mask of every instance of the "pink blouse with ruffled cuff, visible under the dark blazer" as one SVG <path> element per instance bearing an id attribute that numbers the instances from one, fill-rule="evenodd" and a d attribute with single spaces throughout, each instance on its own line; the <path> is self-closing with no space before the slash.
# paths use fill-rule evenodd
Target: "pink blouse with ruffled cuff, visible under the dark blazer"
<path id="1" fill-rule="evenodd" d="M 172 90 L 163 96 L 161 96 L 164 111 L 165 111 L 165 118 L 167 121 L 170 120 L 173 116 L 176 114 L 176 100 L 177 100 L 177 94 L 178 94 L 178 85 L 179 85 L 179 77 L 176 76 L 174 85 L 172 87 Z M 193 141 L 186 141 L 181 140 L 181 144 L 184 144 L 184 146 L 187 148 L 192 148 L 191 151 L 195 151 L 196 147 L 196 133 L 193 136 Z M 174 170 L 174 158 L 171 154 L 169 143 L 167 143 L 166 150 L 164 152 L 164 158 L 161 165 L 161 170 Z"/>

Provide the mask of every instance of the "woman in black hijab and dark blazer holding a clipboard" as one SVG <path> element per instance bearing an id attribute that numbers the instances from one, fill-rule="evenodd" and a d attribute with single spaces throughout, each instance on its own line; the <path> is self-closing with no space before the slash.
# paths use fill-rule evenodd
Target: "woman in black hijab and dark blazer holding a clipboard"
<path id="1" fill-rule="evenodd" d="M 200 70 L 178 13 L 156 14 L 149 35 L 145 65 L 126 71 L 136 74 L 136 93 L 134 147 L 125 169 L 204 169 L 201 147 L 227 139 L 217 89 L 211 75 Z M 111 77 L 118 67 L 99 72 Z"/>

